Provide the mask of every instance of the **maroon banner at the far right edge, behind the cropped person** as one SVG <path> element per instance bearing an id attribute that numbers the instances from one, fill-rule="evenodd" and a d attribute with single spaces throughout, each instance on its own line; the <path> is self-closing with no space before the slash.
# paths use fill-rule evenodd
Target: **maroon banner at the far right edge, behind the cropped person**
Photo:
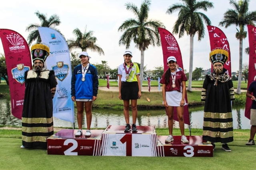
<path id="1" fill-rule="evenodd" d="M 248 84 L 247 89 L 250 84 L 256 80 L 256 27 L 252 25 L 247 25 L 248 28 L 248 39 L 249 39 L 249 66 L 248 66 Z M 254 94 L 255 95 L 255 94 Z M 252 106 L 252 99 L 246 97 L 245 112 L 244 116 L 250 119 L 250 109 Z"/>

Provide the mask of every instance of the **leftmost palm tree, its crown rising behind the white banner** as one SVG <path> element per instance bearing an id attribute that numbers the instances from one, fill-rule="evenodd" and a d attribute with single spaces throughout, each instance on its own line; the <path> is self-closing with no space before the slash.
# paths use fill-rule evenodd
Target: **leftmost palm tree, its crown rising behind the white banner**
<path id="1" fill-rule="evenodd" d="M 47 14 L 42 14 L 39 11 L 35 12 L 36 16 L 41 21 L 40 24 L 38 23 L 31 23 L 26 27 L 26 31 L 31 31 L 28 34 L 28 45 L 31 45 L 33 41 L 36 40 L 36 42 L 41 42 L 40 34 L 38 31 L 38 27 L 49 27 L 52 29 L 55 29 L 56 31 L 60 32 L 56 26 L 60 25 L 60 17 L 56 14 L 50 16 L 49 19 L 47 19 Z"/>

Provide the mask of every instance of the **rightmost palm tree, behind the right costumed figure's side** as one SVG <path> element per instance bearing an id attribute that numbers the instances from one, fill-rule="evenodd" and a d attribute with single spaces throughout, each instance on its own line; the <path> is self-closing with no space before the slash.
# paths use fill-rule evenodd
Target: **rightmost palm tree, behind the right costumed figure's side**
<path id="1" fill-rule="evenodd" d="M 236 94 L 241 94 L 243 39 L 247 36 L 244 26 L 254 25 L 256 21 L 256 11 L 248 12 L 249 2 L 250 0 L 239 0 L 237 3 L 235 0 L 230 0 L 229 3 L 234 9 L 228 9 L 219 23 L 219 25 L 225 26 L 225 28 L 230 25 L 239 27 L 239 30 L 237 29 L 238 32 L 236 32 L 236 38 L 239 40 L 239 73 Z"/>

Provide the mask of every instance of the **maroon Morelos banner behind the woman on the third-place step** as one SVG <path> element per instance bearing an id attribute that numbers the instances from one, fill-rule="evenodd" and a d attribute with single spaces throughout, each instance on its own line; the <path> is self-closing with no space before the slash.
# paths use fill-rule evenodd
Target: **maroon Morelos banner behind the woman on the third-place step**
<path id="1" fill-rule="evenodd" d="M 166 71 L 169 68 L 167 64 L 167 58 L 170 56 L 174 56 L 176 58 L 178 69 L 181 71 L 184 71 L 180 47 L 176 39 L 168 30 L 160 27 L 158 27 L 158 30 L 160 33 L 161 44 L 162 44 L 164 71 Z M 185 100 L 186 100 L 186 103 L 188 103 L 187 94 L 185 96 Z M 184 119 L 184 123 L 186 123 L 187 125 L 190 125 L 188 105 L 184 106 L 183 119 Z M 174 107 L 174 120 L 178 121 L 176 107 Z"/>

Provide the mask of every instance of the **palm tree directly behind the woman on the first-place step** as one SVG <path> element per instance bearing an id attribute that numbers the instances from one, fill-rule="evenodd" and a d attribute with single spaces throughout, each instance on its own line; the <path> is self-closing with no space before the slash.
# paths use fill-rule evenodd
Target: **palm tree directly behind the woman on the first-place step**
<path id="1" fill-rule="evenodd" d="M 158 27 L 164 27 L 162 22 L 148 19 L 150 4 L 150 0 L 144 0 L 139 9 L 134 4 L 126 3 L 126 10 L 133 12 L 136 19 L 130 18 L 118 28 L 118 31 L 124 31 L 119 45 L 125 45 L 128 49 L 133 40 L 136 44 L 135 47 L 140 50 L 140 86 L 142 86 L 144 74 L 144 51 L 148 49 L 149 45 L 160 46 Z"/>

